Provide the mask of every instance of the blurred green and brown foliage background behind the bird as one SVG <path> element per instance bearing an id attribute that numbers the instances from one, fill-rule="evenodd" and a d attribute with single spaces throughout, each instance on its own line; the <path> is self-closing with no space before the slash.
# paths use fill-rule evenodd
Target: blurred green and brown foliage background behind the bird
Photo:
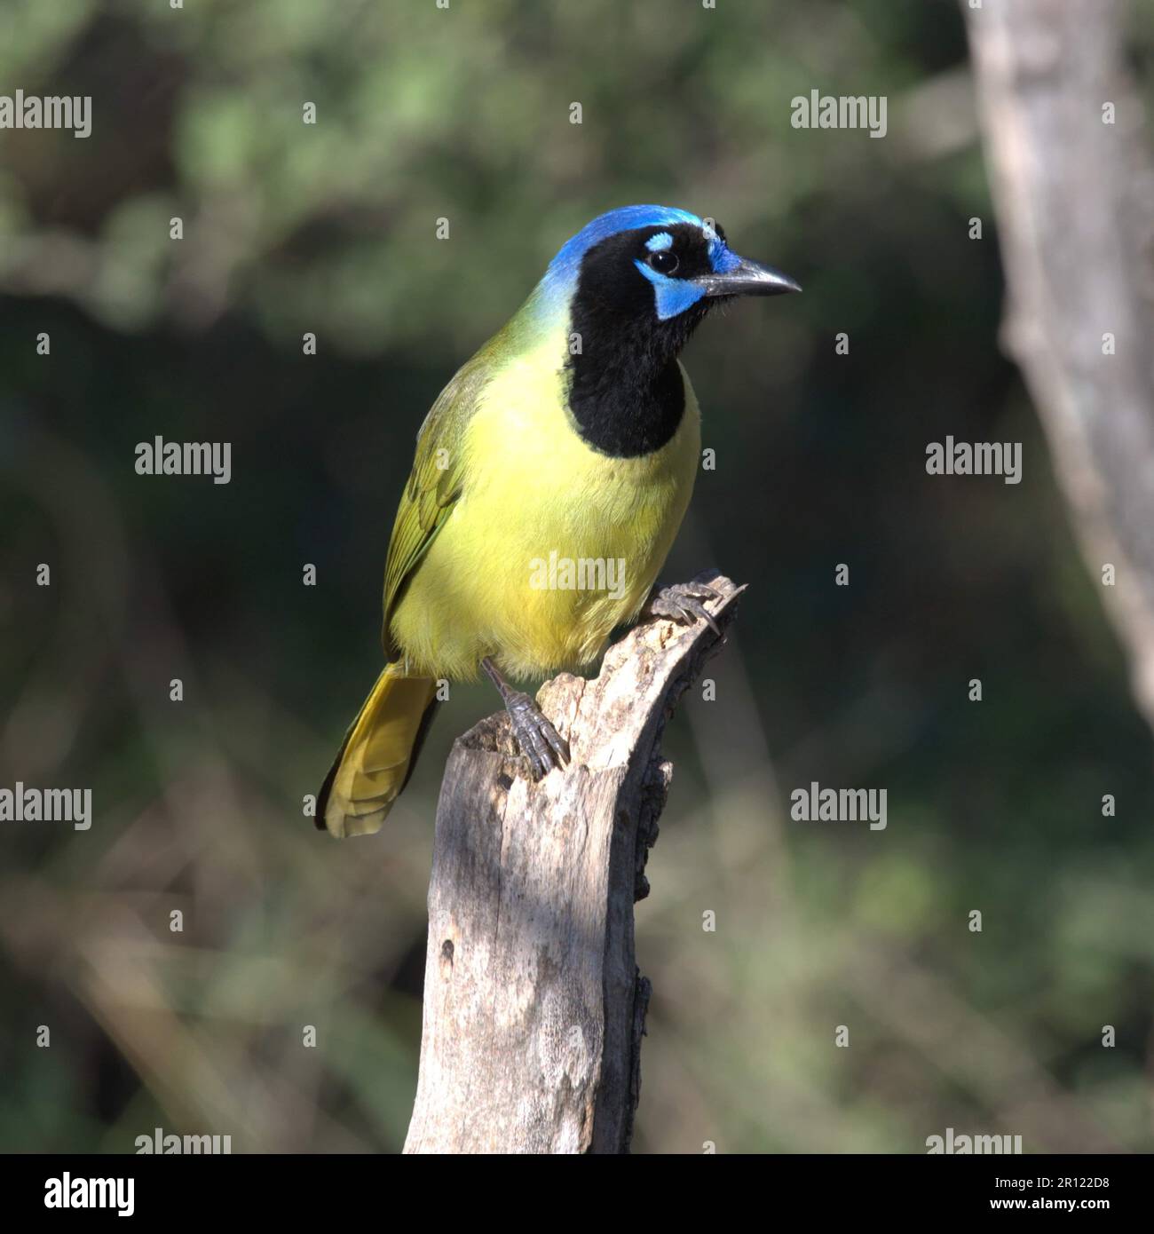
<path id="1" fill-rule="evenodd" d="M 0 784 L 96 823 L 0 834 L 0 1148 L 400 1146 L 436 791 L 494 700 L 454 690 L 375 840 L 300 802 L 378 669 L 427 406 L 632 201 L 806 289 L 686 357 L 717 470 L 668 574 L 750 590 L 669 733 L 636 1146 L 1150 1148 L 1150 734 L 998 352 L 952 2 L 6 0 L 17 86 L 94 128 L 0 133 Z M 791 128 L 811 89 L 886 95 L 887 137 Z M 928 478 L 948 433 L 1022 441 L 1023 482 Z M 137 476 L 156 434 L 231 442 L 232 484 Z M 887 789 L 887 829 L 791 822 L 811 780 Z"/>

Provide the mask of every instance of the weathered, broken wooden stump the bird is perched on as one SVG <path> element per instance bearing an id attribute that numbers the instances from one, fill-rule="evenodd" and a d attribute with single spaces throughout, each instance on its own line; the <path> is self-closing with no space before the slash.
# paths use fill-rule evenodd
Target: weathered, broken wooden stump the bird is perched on
<path id="1" fill-rule="evenodd" d="M 724 633 L 741 590 L 706 571 Z M 538 694 L 573 759 L 527 777 L 504 712 L 458 738 L 437 807 L 421 1074 L 406 1153 L 625 1153 L 649 983 L 633 903 L 671 765 L 665 721 L 721 639 L 653 618 L 595 680 Z"/>

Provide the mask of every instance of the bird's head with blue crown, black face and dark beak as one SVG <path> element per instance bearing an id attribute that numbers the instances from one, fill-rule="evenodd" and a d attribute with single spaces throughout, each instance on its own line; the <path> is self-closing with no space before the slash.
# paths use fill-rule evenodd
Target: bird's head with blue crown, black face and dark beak
<path id="1" fill-rule="evenodd" d="M 568 301 L 574 329 L 583 321 L 613 327 L 674 354 L 713 305 L 801 290 L 780 270 L 738 257 L 712 220 L 668 206 L 594 218 L 562 247 L 543 285 Z"/>

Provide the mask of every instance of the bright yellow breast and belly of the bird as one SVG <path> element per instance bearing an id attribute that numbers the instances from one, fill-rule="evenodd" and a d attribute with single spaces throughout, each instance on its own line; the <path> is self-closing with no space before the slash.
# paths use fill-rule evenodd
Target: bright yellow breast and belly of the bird
<path id="1" fill-rule="evenodd" d="M 464 438 L 464 487 L 396 607 L 411 671 L 469 679 L 491 655 L 534 677 L 594 660 L 644 602 L 673 545 L 701 448 L 685 413 L 662 449 L 611 458 L 564 405 L 567 338 L 494 378 Z"/>

